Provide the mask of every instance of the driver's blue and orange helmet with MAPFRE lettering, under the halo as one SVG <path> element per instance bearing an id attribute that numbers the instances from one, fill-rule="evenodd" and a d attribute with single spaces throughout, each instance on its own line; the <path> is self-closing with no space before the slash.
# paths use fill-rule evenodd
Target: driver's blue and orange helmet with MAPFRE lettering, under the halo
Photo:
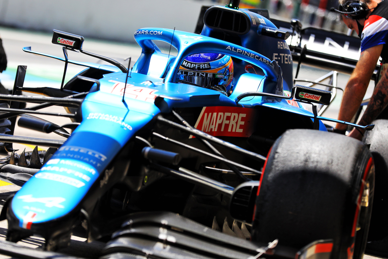
<path id="1" fill-rule="evenodd" d="M 192 54 L 184 59 L 178 70 L 178 82 L 228 93 L 233 84 L 233 61 L 217 53 Z"/>

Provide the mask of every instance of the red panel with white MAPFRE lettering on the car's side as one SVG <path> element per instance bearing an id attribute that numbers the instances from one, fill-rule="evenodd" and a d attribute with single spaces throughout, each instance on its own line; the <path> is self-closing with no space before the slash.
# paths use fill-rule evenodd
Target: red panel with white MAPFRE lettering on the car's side
<path id="1" fill-rule="evenodd" d="M 195 128 L 211 136 L 249 137 L 255 129 L 256 112 L 242 107 L 203 107 Z"/>

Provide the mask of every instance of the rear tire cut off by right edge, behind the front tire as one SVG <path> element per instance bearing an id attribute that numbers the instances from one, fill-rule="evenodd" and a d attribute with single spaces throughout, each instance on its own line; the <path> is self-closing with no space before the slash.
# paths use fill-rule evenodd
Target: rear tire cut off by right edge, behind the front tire
<path id="1" fill-rule="evenodd" d="M 371 218 L 368 241 L 381 240 L 388 236 L 388 120 L 375 120 L 374 128 L 365 133 L 364 143 L 370 144 L 376 184 L 374 206 Z"/>

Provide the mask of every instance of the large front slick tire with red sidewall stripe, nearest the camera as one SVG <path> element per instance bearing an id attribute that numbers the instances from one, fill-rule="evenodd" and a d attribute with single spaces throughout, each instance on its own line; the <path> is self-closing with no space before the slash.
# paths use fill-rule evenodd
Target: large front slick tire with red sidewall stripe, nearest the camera
<path id="1" fill-rule="evenodd" d="M 254 240 L 301 249 L 332 239 L 331 258 L 361 259 L 374 191 L 374 164 L 362 142 L 318 130 L 288 130 L 264 166 Z"/>

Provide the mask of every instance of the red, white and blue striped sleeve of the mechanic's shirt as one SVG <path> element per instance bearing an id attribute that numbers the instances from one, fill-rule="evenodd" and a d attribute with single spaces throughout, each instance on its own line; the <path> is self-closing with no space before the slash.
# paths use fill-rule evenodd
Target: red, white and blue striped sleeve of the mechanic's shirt
<path id="1" fill-rule="evenodd" d="M 371 15 L 365 21 L 361 35 L 361 51 L 388 42 L 388 21 L 384 17 Z"/>

